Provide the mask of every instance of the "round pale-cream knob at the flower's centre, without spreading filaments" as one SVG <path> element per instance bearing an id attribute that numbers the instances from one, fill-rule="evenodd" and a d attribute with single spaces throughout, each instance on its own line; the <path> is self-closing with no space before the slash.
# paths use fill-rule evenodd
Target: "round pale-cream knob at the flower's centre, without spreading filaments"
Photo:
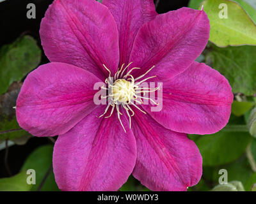
<path id="1" fill-rule="evenodd" d="M 131 101 L 135 95 L 135 89 L 131 82 L 125 80 L 124 78 L 115 80 L 112 88 L 112 94 L 114 101 L 120 103 L 127 103 Z"/>

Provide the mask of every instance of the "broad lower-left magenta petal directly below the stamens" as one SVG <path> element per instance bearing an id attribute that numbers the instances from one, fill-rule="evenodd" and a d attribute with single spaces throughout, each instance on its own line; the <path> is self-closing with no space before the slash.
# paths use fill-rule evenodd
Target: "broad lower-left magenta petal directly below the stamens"
<path id="1" fill-rule="evenodd" d="M 98 118 L 104 106 L 84 118 L 54 145 L 53 168 L 63 191 L 116 191 L 126 182 L 136 162 L 136 141 L 116 113 Z M 129 121 L 122 117 L 124 126 Z"/>

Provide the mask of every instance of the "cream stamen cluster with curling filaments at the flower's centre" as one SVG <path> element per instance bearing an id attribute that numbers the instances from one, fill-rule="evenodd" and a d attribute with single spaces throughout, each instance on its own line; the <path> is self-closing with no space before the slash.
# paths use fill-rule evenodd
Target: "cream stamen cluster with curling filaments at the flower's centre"
<path id="1" fill-rule="evenodd" d="M 145 77 L 145 75 L 147 75 L 147 73 L 151 71 L 154 68 L 154 66 L 148 69 L 148 71 L 140 77 L 134 78 L 131 75 L 132 71 L 134 69 L 140 68 L 132 68 L 127 73 L 125 73 L 125 71 L 127 70 L 127 68 L 129 68 L 131 64 L 132 62 L 129 63 L 125 68 L 124 64 L 122 64 L 121 68 L 118 68 L 118 71 L 115 73 L 113 78 L 111 78 L 111 71 L 103 64 L 104 68 L 109 72 L 109 77 L 105 80 L 105 83 L 108 84 L 108 87 L 106 87 L 105 85 L 101 87 L 101 89 L 108 91 L 108 94 L 106 96 L 101 96 L 101 98 L 108 99 L 109 103 L 104 113 L 99 117 L 104 116 L 108 112 L 110 106 L 110 114 L 105 118 L 111 117 L 116 108 L 118 120 L 120 121 L 120 124 L 123 128 L 124 125 L 122 124 L 122 120 L 120 119 L 120 115 L 123 114 L 120 112 L 120 106 L 122 106 L 125 109 L 125 112 L 129 117 L 129 124 L 131 128 L 131 117 L 134 115 L 134 111 L 132 110 L 131 106 L 134 106 L 141 112 L 147 114 L 145 111 L 141 110 L 141 108 L 139 108 L 135 103 L 141 105 L 143 104 L 142 99 L 147 99 L 152 101 L 153 104 L 158 105 L 156 101 L 154 101 L 153 99 L 145 97 L 145 94 L 148 92 L 157 91 L 160 87 L 157 87 L 155 89 L 150 89 L 148 87 L 140 87 L 141 83 L 147 81 L 150 78 L 156 77 L 153 76 L 140 80 L 141 78 Z M 143 96 L 141 96 L 141 93 Z"/>

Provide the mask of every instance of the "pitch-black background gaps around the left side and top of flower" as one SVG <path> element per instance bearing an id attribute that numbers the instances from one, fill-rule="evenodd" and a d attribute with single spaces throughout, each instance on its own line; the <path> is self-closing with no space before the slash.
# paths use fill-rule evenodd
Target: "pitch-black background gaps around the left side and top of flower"
<path id="1" fill-rule="evenodd" d="M 122 1 L 122 0 L 120 0 Z M 188 6 L 189 0 L 160 0 L 157 4 L 157 13 L 166 13 L 170 10 L 177 10 Z M 155 4 L 157 0 L 154 1 Z M 36 18 L 28 19 L 27 4 L 36 5 Z M 41 19 L 52 0 L 7 0 L 0 3 L 0 47 L 12 43 L 22 34 L 29 34 L 38 41 L 40 46 L 39 28 Z M 42 47 L 41 47 L 42 48 Z M 48 62 L 47 57 L 42 55 L 41 64 Z M 30 138 L 26 145 L 13 145 L 8 150 L 8 164 L 12 174 L 19 172 L 26 157 L 40 145 L 51 143 L 47 138 Z M 0 151 L 0 178 L 8 177 L 4 168 L 5 150 Z"/>

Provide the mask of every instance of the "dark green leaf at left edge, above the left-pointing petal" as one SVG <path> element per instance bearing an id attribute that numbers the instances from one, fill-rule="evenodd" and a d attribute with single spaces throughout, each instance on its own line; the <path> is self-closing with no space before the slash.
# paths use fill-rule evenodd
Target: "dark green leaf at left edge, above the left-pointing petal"
<path id="1" fill-rule="evenodd" d="M 31 36 L 22 36 L 0 49 L 0 95 L 41 61 L 41 50 Z"/>

